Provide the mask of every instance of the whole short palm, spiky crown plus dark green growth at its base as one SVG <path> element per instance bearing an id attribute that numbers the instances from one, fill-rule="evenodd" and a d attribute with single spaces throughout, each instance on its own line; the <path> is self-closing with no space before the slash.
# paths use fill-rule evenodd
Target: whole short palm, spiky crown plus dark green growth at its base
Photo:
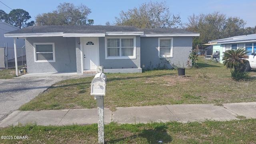
<path id="1" fill-rule="evenodd" d="M 247 53 L 248 52 L 243 48 L 223 52 L 224 56 L 222 60 L 224 60 L 224 66 L 230 69 L 231 77 L 236 81 L 249 79 L 249 73 L 245 72 L 247 67 L 246 63 L 248 63 L 246 58 L 249 58 L 249 56 L 246 55 Z M 234 70 L 232 70 L 233 68 Z"/>

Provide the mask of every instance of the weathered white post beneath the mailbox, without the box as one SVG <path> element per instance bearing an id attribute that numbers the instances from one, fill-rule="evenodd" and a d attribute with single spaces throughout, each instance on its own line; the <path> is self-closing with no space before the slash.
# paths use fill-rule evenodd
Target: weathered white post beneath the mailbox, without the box
<path id="1" fill-rule="evenodd" d="M 98 106 L 98 144 L 104 144 L 104 96 L 94 96 Z"/>

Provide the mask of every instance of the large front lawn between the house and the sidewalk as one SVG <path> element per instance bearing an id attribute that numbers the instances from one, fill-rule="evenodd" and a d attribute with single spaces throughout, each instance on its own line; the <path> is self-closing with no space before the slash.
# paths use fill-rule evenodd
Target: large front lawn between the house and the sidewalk
<path id="1" fill-rule="evenodd" d="M 202 59 L 202 58 L 201 58 Z M 186 77 L 177 70 L 153 70 L 137 74 L 106 74 L 104 107 L 154 106 L 165 104 L 216 104 L 255 102 L 256 74 L 250 80 L 236 82 L 223 64 L 210 60 L 198 62 L 199 68 L 186 69 Z M 60 110 L 96 108 L 90 95 L 93 77 L 58 82 L 19 110 Z"/>

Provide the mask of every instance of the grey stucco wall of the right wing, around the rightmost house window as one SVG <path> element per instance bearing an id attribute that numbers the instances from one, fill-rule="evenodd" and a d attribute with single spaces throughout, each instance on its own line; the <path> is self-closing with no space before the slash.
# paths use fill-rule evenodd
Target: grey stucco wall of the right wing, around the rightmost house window
<path id="1" fill-rule="evenodd" d="M 188 55 L 192 49 L 192 37 L 171 37 L 173 38 L 173 57 L 158 57 L 158 37 L 142 37 L 141 38 L 141 68 L 143 69 L 161 69 L 178 67 L 186 67 Z"/>

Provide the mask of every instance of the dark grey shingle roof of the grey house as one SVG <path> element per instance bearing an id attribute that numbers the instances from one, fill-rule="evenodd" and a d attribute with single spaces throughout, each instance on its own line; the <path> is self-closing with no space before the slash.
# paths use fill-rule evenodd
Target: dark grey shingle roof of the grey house
<path id="1" fill-rule="evenodd" d="M 199 36 L 199 34 L 178 28 L 137 28 L 135 26 L 29 26 L 6 33 L 5 36 L 18 37 L 22 34 L 105 34 L 106 32 L 128 32 L 143 36 L 175 35 L 175 36 Z M 139 33 L 138 33 L 139 32 Z M 61 36 L 60 34 L 60 36 Z M 24 35 L 23 35 L 24 36 Z M 34 35 L 36 36 L 36 35 Z"/>

